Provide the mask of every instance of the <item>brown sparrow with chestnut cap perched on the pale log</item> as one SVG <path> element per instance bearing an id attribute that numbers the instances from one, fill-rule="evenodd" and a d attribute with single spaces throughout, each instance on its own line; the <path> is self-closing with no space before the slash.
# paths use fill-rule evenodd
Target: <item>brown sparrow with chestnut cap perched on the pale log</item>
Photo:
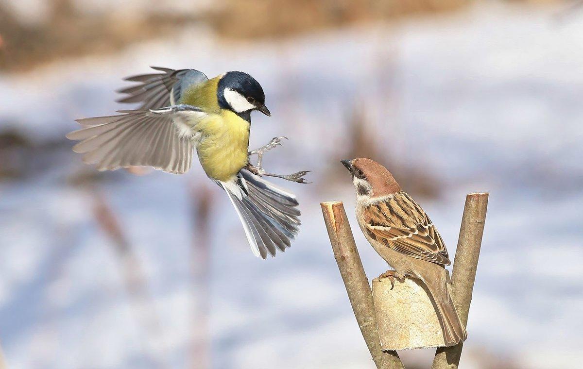
<path id="1" fill-rule="evenodd" d="M 384 276 L 405 276 L 423 282 L 437 307 L 447 345 L 468 336 L 449 292 L 445 265 L 449 256 L 436 227 L 421 206 L 401 190 L 392 174 L 376 161 L 341 160 L 356 188 L 356 218 L 375 251 L 395 270 Z"/>

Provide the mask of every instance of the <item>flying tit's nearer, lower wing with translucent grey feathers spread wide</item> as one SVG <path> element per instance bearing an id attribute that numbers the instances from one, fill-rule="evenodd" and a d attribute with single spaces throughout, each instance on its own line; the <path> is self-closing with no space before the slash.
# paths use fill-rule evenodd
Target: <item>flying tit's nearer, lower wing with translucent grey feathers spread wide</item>
<path id="1" fill-rule="evenodd" d="M 100 171 L 150 166 L 181 174 L 190 168 L 193 132 L 186 131 L 184 121 L 205 117 L 203 110 L 178 105 L 118 113 L 122 114 L 80 119 L 83 128 L 66 135 L 81 141 L 73 151 L 85 154 L 85 163 L 97 164 Z"/>

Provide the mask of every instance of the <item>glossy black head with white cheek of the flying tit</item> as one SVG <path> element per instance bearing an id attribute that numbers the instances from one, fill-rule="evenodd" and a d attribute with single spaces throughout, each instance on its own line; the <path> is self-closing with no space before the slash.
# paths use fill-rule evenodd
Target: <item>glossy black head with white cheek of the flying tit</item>
<path id="1" fill-rule="evenodd" d="M 243 96 L 239 99 L 238 96 L 230 97 L 225 90 L 236 92 Z M 227 90 L 227 91 L 229 91 Z M 259 110 L 265 115 L 271 115 L 268 108 L 265 107 L 265 93 L 259 82 L 245 72 L 227 72 L 219 80 L 217 88 L 217 97 L 219 99 L 219 106 L 223 109 L 229 109 L 237 114 L 248 113 L 251 110 Z M 234 101 L 229 101 L 232 99 Z M 245 104 L 247 101 L 248 105 Z"/>

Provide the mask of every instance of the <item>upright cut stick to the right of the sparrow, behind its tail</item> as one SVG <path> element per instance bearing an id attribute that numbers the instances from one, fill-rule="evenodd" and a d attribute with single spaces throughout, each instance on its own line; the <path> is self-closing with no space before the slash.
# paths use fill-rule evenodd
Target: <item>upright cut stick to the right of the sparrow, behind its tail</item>
<path id="1" fill-rule="evenodd" d="M 477 261 L 480 256 L 488 194 L 466 196 L 462 225 L 459 229 L 458 248 L 455 251 L 451 285 L 455 308 L 463 324 L 468 325 L 468 312 L 476 279 Z M 470 333 L 471 335 L 471 333 Z M 437 349 L 431 369 L 457 369 L 462 356 L 463 342 Z"/>

